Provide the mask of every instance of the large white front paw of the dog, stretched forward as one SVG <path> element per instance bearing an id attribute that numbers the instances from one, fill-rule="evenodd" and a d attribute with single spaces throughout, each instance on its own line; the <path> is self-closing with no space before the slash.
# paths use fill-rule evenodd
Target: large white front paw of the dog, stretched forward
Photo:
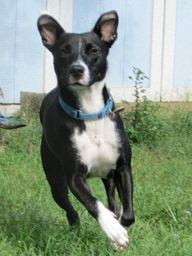
<path id="1" fill-rule="evenodd" d="M 108 236 L 112 243 L 118 246 L 127 246 L 129 244 L 129 237 L 126 229 L 124 229 L 119 222 L 114 218 L 116 217 L 113 212 L 106 209 L 104 205 L 98 201 L 98 223 L 102 231 Z"/>

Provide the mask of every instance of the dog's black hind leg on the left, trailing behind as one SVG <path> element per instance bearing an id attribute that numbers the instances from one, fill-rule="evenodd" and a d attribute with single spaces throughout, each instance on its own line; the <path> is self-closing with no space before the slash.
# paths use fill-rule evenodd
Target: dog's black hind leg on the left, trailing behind
<path id="1" fill-rule="evenodd" d="M 69 201 L 67 180 L 62 172 L 61 163 L 50 150 L 44 135 L 42 135 L 41 141 L 41 159 L 53 199 L 67 212 L 69 224 L 77 224 L 79 222 L 78 214 Z"/>

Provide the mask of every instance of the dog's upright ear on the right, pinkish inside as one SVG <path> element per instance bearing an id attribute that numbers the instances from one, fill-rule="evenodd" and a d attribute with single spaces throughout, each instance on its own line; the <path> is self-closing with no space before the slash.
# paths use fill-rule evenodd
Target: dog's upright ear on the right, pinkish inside
<path id="1" fill-rule="evenodd" d="M 108 47 L 117 39 L 118 14 L 116 11 L 106 12 L 98 19 L 93 32 L 95 32 Z"/>

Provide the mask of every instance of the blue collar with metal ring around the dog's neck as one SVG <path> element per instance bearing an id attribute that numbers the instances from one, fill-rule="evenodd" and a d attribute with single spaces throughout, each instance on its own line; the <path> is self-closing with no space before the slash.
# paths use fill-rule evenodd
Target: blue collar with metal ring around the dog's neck
<path id="1" fill-rule="evenodd" d="M 76 110 L 72 108 L 72 106 L 68 105 L 66 102 L 64 102 L 61 97 L 59 96 L 59 103 L 61 108 L 71 117 L 80 119 L 80 120 L 96 120 L 105 117 L 108 115 L 109 117 L 113 117 L 114 113 L 112 112 L 113 108 L 113 98 L 111 94 L 109 94 L 109 99 L 106 102 L 106 105 L 102 110 L 96 113 L 84 113 L 80 110 Z"/>

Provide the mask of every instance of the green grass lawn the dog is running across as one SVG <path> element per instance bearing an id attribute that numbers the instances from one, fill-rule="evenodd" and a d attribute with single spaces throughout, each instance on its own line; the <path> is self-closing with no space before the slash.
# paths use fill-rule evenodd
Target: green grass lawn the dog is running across
<path id="1" fill-rule="evenodd" d="M 132 145 L 136 223 L 121 255 L 192 255 L 191 134 L 176 130 L 151 147 Z M 41 167 L 40 137 L 39 123 L 0 131 L 0 255 L 118 255 L 71 194 L 81 225 L 68 226 Z M 101 180 L 88 183 L 107 206 Z"/>

